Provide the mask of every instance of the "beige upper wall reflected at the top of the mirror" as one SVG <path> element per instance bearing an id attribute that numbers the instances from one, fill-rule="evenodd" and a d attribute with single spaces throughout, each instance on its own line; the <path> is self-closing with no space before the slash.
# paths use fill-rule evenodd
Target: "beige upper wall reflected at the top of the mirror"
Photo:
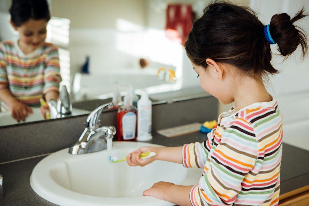
<path id="1" fill-rule="evenodd" d="M 52 15 L 70 19 L 71 28 L 116 28 L 117 19 L 146 24 L 144 0 L 52 0 Z"/>

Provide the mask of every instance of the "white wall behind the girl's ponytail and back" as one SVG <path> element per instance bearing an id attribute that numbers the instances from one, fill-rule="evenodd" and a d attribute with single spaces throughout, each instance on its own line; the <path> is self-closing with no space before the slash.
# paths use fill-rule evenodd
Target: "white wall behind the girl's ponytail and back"
<path id="1" fill-rule="evenodd" d="M 269 24 L 277 13 L 288 13 L 291 17 L 302 7 L 309 10 L 307 0 L 252 0 L 251 6 L 260 13 L 260 20 Z M 309 34 L 309 18 L 295 23 Z M 268 90 L 277 99 L 283 113 L 283 142 L 309 150 L 309 57 L 301 61 L 300 47 L 283 61 L 278 56 L 277 45 L 271 45 L 273 65 L 281 71 L 271 77 Z M 283 62 L 282 62 L 283 61 Z"/>

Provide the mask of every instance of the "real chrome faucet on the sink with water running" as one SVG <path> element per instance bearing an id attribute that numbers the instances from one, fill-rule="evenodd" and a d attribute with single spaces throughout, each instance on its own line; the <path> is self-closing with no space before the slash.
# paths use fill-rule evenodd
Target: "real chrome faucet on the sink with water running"
<path id="1" fill-rule="evenodd" d="M 89 114 L 84 123 L 86 128 L 79 137 L 79 140 L 70 147 L 70 154 L 85 154 L 107 149 L 107 139 L 114 137 L 116 128 L 113 126 L 101 127 L 100 116 L 104 108 L 109 105 L 112 104 L 103 104 Z"/>

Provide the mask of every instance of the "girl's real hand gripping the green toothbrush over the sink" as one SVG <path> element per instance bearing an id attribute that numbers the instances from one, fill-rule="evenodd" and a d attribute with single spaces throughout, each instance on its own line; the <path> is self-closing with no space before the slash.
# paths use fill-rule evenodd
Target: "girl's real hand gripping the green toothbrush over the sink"
<path id="1" fill-rule="evenodd" d="M 157 153 L 154 157 L 148 158 L 148 159 L 141 159 L 139 158 L 139 155 L 143 152 L 155 152 Z M 151 162 L 156 160 L 156 157 L 159 153 L 159 147 L 140 147 L 134 152 L 131 152 L 128 154 L 127 162 L 129 166 L 145 166 L 150 164 Z"/>

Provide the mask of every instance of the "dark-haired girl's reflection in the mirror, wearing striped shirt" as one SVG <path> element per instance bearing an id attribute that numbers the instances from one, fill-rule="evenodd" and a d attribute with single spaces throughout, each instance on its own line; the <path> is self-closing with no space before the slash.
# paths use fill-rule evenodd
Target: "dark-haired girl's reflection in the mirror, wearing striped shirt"
<path id="1" fill-rule="evenodd" d="M 58 99 L 59 55 L 45 43 L 50 19 L 46 0 L 13 0 L 11 25 L 19 32 L 16 41 L 0 43 L 0 100 L 16 120 L 25 120 L 40 98 Z M 48 106 L 41 107 L 46 119 Z"/>

